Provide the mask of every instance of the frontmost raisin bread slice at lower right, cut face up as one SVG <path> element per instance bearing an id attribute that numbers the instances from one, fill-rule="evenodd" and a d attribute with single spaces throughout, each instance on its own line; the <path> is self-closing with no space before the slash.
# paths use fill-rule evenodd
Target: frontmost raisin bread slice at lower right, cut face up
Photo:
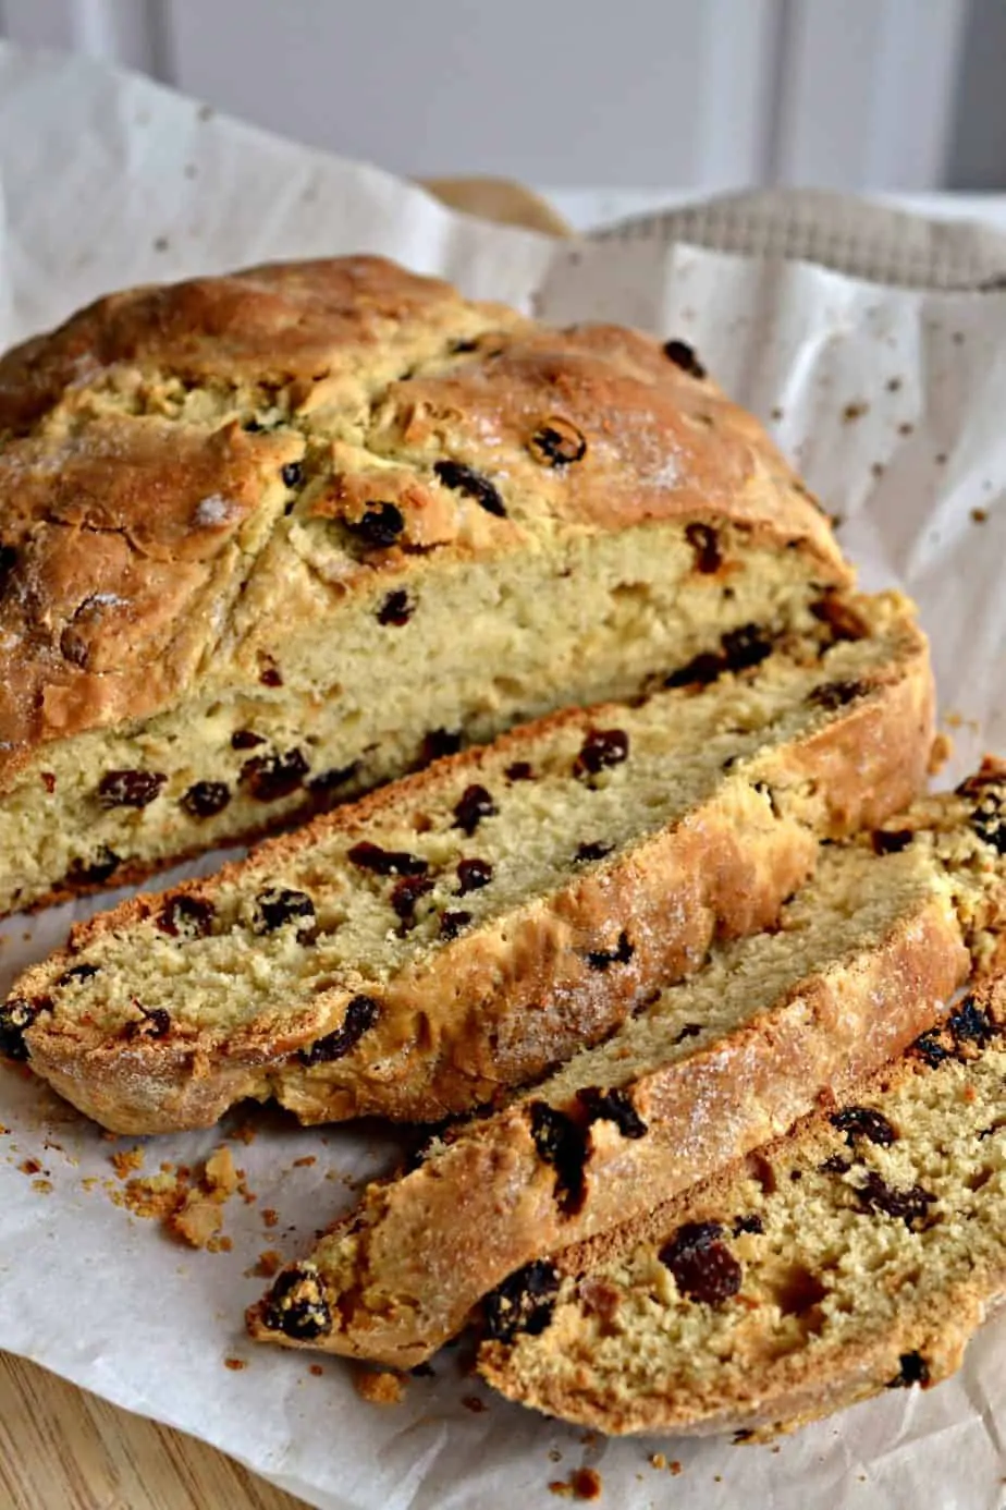
<path id="1" fill-rule="evenodd" d="M 1006 1293 L 1006 983 L 609 1238 L 514 1274 L 478 1367 L 600 1431 L 768 1436 L 953 1373 Z"/>

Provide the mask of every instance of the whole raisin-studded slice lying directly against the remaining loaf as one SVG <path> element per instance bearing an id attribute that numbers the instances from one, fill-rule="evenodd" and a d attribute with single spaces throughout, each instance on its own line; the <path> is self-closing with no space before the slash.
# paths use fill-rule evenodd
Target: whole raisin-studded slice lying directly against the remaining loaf
<path id="1" fill-rule="evenodd" d="M 130 1132 L 244 1096 L 437 1120 L 541 1075 L 920 788 L 925 639 L 897 599 L 860 613 L 824 654 L 552 716 L 74 927 L 15 985 L 8 1052 Z"/>

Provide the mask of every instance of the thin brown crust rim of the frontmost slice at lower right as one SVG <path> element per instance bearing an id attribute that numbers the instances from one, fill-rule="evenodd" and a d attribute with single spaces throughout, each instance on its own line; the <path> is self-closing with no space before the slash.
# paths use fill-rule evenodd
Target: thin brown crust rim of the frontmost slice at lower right
<path id="1" fill-rule="evenodd" d="M 1006 978 L 998 974 L 983 982 L 971 992 L 971 998 L 979 1010 L 998 1024 L 1001 1033 L 1006 1025 Z M 882 1077 L 875 1077 L 873 1083 L 867 1080 L 848 1090 L 870 1099 L 878 1095 L 878 1081 L 882 1081 L 881 1090 L 887 1092 L 919 1074 L 926 1074 L 919 1060 L 905 1057 L 884 1071 Z M 808 1117 L 766 1148 L 765 1154 L 784 1157 L 792 1148 L 793 1155 L 799 1149 L 804 1157 L 813 1158 L 814 1136 L 828 1131 L 822 1116 Z M 680 1222 L 703 1220 L 710 1213 L 731 1210 L 735 1179 L 736 1166 L 727 1167 L 698 1191 L 661 1203 L 624 1229 L 558 1253 L 558 1273 L 582 1274 L 630 1250 L 636 1243 L 659 1243 Z M 988 1315 L 1001 1308 L 1004 1296 L 1006 1247 L 991 1255 L 974 1253 L 967 1279 L 952 1280 L 940 1293 L 929 1296 L 912 1291 L 893 1324 L 884 1330 L 867 1329 L 863 1335 L 830 1345 L 814 1339 L 813 1347 L 765 1356 L 756 1370 L 745 1373 L 733 1398 L 724 1398 L 715 1385 L 682 1388 L 679 1392 L 667 1391 L 647 1398 L 624 1400 L 611 1394 L 599 1398 L 587 1377 L 579 1385 L 566 1388 L 549 1370 L 538 1371 L 534 1386 L 528 1386 L 508 1367 L 508 1347 L 495 1341 L 481 1344 L 478 1368 L 508 1398 L 608 1434 L 713 1436 L 742 1431 L 745 1438 L 769 1441 L 899 1383 L 906 1354 L 925 1359 L 925 1388 L 940 1383 L 961 1367 L 968 1341 Z M 561 1327 L 560 1318 L 560 1332 Z M 554 1345 L 563 1350 L 566 1342 L 557 1335 Z"/>

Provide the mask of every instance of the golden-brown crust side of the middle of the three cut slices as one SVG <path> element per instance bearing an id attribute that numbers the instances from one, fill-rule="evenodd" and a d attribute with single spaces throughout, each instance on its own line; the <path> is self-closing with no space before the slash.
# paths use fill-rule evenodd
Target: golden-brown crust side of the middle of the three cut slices
<path id="1" fill-rule="evenodd" d="M 968 965 L 946 904 L 920 900 L 872 951 L 641 1075 L 630 1101 L 647 1131 L 626 1139 L 611 1120 L 591 1125 L 575 1213 L 555 1199 L 526 1104 L 475 1126 L 430 1166 L 371 1187 L 345 1219 L 357 1250 L 351 1285 L 329 1288 L 333 1329 L 312 1345 L 403 1368 L 422 1362 L 514 1270 L 646 1213 L 655 1190 L 662 1199 L 686 1190 L 899 1054 Z M 288 1341 L 261 1306 L 249 1327 L 259 1341 Z"/>

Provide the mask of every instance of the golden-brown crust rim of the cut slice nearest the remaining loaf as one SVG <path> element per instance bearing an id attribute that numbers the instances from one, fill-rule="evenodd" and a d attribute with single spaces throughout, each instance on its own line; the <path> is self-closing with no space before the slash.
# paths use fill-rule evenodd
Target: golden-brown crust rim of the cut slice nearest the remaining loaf
<path id="1" fill-rule="evenodd" d="M 368 1113 L 436 1122 L 471 1110 L 602 1037 L 649 989 L 698 965 L 716 932 L 730 936 L 771 924 L 810 874 L 820 838 L 872 827 L 911 802 L 925 782 L 932 740 L 932 678 L 925 637 L 911 624 L 902 645 L 903 654 L 870 673 L 864 695 L 843 716 L 771 752 L 759 767 L 769 784 L 810 788 L 810 815 L 772 811 L 747 781 L 725 778 L 680 823 L 404 969 L 382 988 L 376 1027 L 332 1063 L 306 1066 L 297 1051 L 341 1025 L 351 983 L 318 992 L 297 1013 L 278 1003 L 271 1015 L 228 1037 L 173 1025 L 158 1040 L 107 1040 L 84 1027 L 51 1027 L 42 1013 L 24 1034 L 30 1063 L 74 1105 L 122 1132 L 208 1126 L 247 1096 L 275 1096 L 305 1122 Z M 588 728 L 608 716 L 615 710 L 572 710 L 537 728 Z M 525 732 L 489 749 L 519 755 Z M 288 856 L 311 846 L 318 824 L 363 835 L 371 817 L 416 794 L 431 797 L 455 784 L 459 770 L 477 776 L 487 753 L 463 752 L 268 841 L 252 864 L 264 874 L 282 871 Z M 216 880 L 234 874 L 229 865 Z M 169 895 L 208 895 L 211 885 L 190 882 Z M 676 898 L 670 909 L 668 897 Z M 27 971 L 15 994 L 42 997 L 53 972 L 89 941 L 128 929 L 163 904 L 163 895 L 140 894 L 78 924 L 66 951 Z M 623 930 L 632 957 L 617 971 L 591 968 L 587 956 L 611 950 Z M 537 1007 L 534 1031 L 529 1004 Z"/>

